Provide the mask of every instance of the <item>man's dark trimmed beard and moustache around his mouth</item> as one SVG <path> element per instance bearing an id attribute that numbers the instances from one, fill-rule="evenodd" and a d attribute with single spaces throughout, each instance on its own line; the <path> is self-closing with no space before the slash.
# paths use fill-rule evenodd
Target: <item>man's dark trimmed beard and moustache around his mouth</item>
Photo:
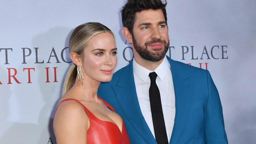
<path id="1" fill-rule="evenodd" d="M 170 45 L 170 42 L 168 40 L 168 43 L 165 41 L 165 40 L 161 40 L 161 39 L 153 39 L 151 41 L 147 41 L 145 42 L 144 46 L 142 45 L 138 45 L 135 38 L 132 37 L 133 39 L 133 46 L 135 48 L 135 50 L 138 52 L 138 54 L 145 60 L 148 60 L 148 61 L 152 61 L 152 62 L 158 62 L 160 60 L 162 60 L 164 57 L 165 57 L 165 54 L 166 52 L 168 51 L 169 49 L 169 45 Z M 154 43 L 163 43 L 164 44 L 164 50 L 161 49 L 155 49 L 153 51 L 162 51 L 162 53 L 153 53 L 151 51 L 148 50 L 148 45 L 150 44 L 154 44 Z"/>

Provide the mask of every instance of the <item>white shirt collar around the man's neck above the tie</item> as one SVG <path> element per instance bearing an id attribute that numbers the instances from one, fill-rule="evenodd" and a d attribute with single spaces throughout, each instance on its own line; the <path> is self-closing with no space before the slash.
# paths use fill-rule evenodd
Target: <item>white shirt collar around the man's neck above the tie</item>
<path id="1" fill-rule="evenodd" d="M 156 72 L 157 76 L 163 80 L 165 74 L 167 73 L 168 68 L 170 68 L 169 65 L 169 61 L 167 59 L 167 57 L 164 57 L 164 60 L 162 61 L 162 63 L 154 70 L 154 71 L 150 71 L 144 67 L 142 67 L 141 65 L 139 65 L 135 59 L 133 58 L 133 72 L 144 82 L 147 82 L 148 79 L 148 75 L 150 72 Z"/>

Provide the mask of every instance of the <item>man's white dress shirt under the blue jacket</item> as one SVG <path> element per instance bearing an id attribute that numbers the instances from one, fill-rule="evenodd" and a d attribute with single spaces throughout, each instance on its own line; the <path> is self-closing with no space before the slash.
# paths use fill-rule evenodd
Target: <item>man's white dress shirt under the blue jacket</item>
<path id="1" fill-rule="evenodd" d="M 133 74 L 140 109 L 149 129 L 155 137 L 149 101 L 150 78 L 148 75 L 150 72 L 153 71 L 140 66 L 133 59 Z M 167 57 L 164 58 L 163 62 L 154 70 L 154 72 L 157 74 L 156 84 L 160 91 L 165 127 L 168 141 L 170 142 L 175 118 L 175 94 L 172 73 Z"/>

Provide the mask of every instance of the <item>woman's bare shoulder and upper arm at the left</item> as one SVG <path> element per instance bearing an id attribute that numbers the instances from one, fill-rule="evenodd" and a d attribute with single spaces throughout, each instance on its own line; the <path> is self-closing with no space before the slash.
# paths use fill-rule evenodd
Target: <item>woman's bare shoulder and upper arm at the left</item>
<path id="1" fill-rule="evenodd" d="M 74 100 L 61 102 L 53 122 L 57 142 L 86 143 L 88 124 L 88 115 L 78 102 Z"/>

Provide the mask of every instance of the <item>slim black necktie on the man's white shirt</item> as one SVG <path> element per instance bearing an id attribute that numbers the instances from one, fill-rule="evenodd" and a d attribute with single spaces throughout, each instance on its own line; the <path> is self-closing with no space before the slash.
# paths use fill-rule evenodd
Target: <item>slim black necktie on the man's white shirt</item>
<path id="1" fill-rule="evenodd" d="M 149 88 L 149 100 L 150 100 L 150 109 L 152 114 L 154 132 L 155 132 L 156 142 L 158 144 L 168 144 L 160 92 L 156 85 L 156 77 L 157 77 L 157 74 L 155 72 L 149 73 L 149 78 L 151 81 L 150 88 Z"/>

